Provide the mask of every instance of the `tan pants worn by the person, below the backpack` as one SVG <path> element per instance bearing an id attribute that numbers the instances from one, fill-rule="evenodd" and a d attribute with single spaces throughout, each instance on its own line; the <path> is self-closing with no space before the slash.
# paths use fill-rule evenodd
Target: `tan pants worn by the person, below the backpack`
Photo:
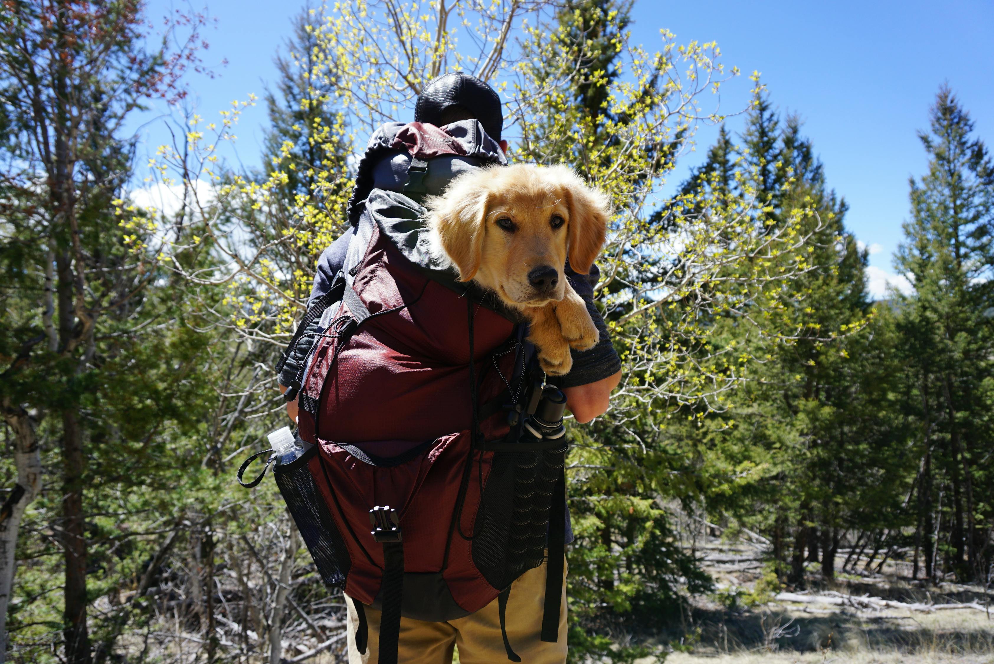
<path id="1" fill-rule="evenodd" d="M 507 638 L 521 656 L 522 664 L 564 664 L 566 662 L 566 567 L 564 566 L 563 609 L 560 611 L 559 641 L 539 640 L 546 597 L 546 563 L 529 570 L 511 584 L 507 601 Z M 349 606 L 349 664 L 377 664 L 380 642 L 380 611 L 365 607 L 369 625 L 366 654 L 356 649 L 359 617 L 351 597 Z M 401 664 L 451 664 L 452 648 L 459 646 L 460 664 L 500 664 L 507 662 L 500 633 L 497 600 L 448 622 L 423 622 L 401 618 L 401 639 L 397 661 Z"/>

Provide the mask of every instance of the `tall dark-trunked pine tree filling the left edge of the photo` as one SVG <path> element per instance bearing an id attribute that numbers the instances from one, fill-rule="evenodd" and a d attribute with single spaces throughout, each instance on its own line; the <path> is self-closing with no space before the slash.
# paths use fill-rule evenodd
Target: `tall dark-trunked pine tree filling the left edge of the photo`
<path id="1" fill-rule="evenodd" d="M 107 615 L 88 611 L 91 572 L 125 554 L 113 541 L 117 524 L 99 515 L 141 509 L 136 503 L 147 496 L 136 486 L 168 474 L 177 461 L 174 440 L 161 429 L 175 431 L 182 420 L 189 426 L 199 413 L 191 397 L 201 384 L 190 370 L 203 345 L 174 325 L 175 301 L 159 290 L 168 278 L 145 250 L 155 229 L 134 208 L 115 214 L 123 213 L 119 197 L 134 157 L 120 127 L 149 98 L 181 94 L 175 83 L 197 62 L 186 48 L 175 58 L 146 50 L 140 9 L 131 0 L 19 2 L 0 19 L 0 117 L 10 130 L 0 141 L 0 356 L 7 359 L 0 403 L 17 435 L 19 479 L 27 474 L 22 464 L 39 455 L 58 478 L 55 491 L 36 497 L 39 514 L 51 519 L 36 532 L 56 534 L 60 556 L 28 557 L 25 568 L 51 566 L 49 587 L 18 609 L 39 610 L 48 597 L 57 603 L 38 621 L 23 622 L 58 624 L 61 613 L 61 656 L 72 664 L 108 654 L 102 630 L 90 629 Z M 198 17 L 176 20 L 188 19 L 195 32 Z M 30 497 L 26 491 L 12 500 L 9 514 L 20 517 L 24 505 L 17 503 Z M 17 527 L 15 520 L 0 529 L 0 649 L 3 620 L 22 621 L 18 610 L 6 610 Z M 51 537 L 19 549 L 51 546 Z M 119 581 L 101 575 L 99 583 Z"/>

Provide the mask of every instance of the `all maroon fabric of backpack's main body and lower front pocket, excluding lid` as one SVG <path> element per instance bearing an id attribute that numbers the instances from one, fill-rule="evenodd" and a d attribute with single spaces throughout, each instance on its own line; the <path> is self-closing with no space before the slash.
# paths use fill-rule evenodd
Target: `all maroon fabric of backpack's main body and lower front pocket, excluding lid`
<path id="1" fill-rule="evenodd" d="M 329 362 L 338 341 L 320 339 L 303 387 L 306 394 L 320 400 L 316 421 L 301 411 L 300 434 L 319 444 L 320 453 L 309 467 L 352 561 L 345 591 L 367 604 L 379 592 L 383 547 L 371 535 L 369 510 L 390 505 L 401 510 L 405 571 L 442 571 L 456 603 L 467 611 L 477 610 L 497 596 L 498 588 L 476 570 L 470 542 L 458 533 L 449 542 L 470 454 L 466 299 L 424 276 L 378 231 L 354 288 L 371 313 L 402 304 L 408 307 L 364 323 L 334 366 L 329 367 Z M 508 340 L 514 326 L 479 305 L 473 311 L 477 379 L 485 368 L 489 370 L 480 389 L 480 404 L 485 404 L 505 387 L 490 365 L 491 354 Z M 498 363 L 504 376 L 510 376 L 513 357 L 508 353 Z M 508 430 L 502 413 L 493 415 L 482 428 L 488 438 Z M 366 464 L 335 444 L 360 443 L 357 446 L 364 451 L 388 456 L 427 440 L 435 442 L 395 467 Z M 492 452 L 477 451 L 471 459 L 461 511 L 462 532 L 467 535 L 475 523 L 491 457 Z M 450 551 L 442 570 L 446 543 Z"/>

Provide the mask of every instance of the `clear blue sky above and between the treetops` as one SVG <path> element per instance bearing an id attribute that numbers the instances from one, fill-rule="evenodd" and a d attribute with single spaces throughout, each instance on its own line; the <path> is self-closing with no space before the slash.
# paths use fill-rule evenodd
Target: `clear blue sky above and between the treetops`
<path id="1" fill-rule="evenodd" d="M 147 3 L 149 16 L 183 4 Z M 196 6 L 196 4 L 195 4 Z M 208 12 L 217 28 L 205 31 L 205 64 L 213 80 L 195 77 L 194 102 L 215 117 L 233 99 L 261 95 L 275 80 L 272 58 L 303 2 L 214 0 Z M 940 83 L 947 82 L 969 109 L 978 134 L 994 147 L 994 2 L 947 0 L 794 2 L 712 0 L 673 3 L 637 0 L 635 40 L 659 44 L 659 29 L 679 42 L 717 41 L 725 62 L 744 74 L 758 70 L 771 100 L 804 120 L 804 131 L 825 164 L 829 185 L 849 202 L 847 226 L 871 248 L 871 285 L 882 294 L 893 272 L 892 254 L 908 218 L 908 178 L 925 169 L 916 131 Z M 221 66 L 226 59 L 227 66 Z M 728 83 L 722 109 L 745 106 L 745 76 Z M 154 110 L 147 117 L 155 115 Z M 261 105 L 246 112 L 238 157 L 258 163 L 265 121 Z M 152 142 L 155 122 L 142 129 Z M 740 118 L 730 120 L 738 130 Z M 707 151 L 715 131 L 702 128 L 697 152 L 685 158 L 683 177 Z"/>

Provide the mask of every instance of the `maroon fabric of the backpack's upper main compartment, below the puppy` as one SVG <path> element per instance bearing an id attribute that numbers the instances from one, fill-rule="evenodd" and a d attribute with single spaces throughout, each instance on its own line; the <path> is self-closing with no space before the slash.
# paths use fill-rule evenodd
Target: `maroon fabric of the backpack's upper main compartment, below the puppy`
<path id="1" fill-rule="evenodd" d="M 317 436 L 336 442 L 423 442 L 469 428 L 466 300 L 424 276 L 377 233 L 354 288 L 370 313 L 409 306 L 364 323 L 334 366 L 328 366 L 333 340 L 322 339 L 305 386 L 308 395 L 321 400 Z M 474 305 L 473 328 L 479 377 L 514 326 Z M 492 371 L 487 379 L 481 403 L 504 387 Z"/>

